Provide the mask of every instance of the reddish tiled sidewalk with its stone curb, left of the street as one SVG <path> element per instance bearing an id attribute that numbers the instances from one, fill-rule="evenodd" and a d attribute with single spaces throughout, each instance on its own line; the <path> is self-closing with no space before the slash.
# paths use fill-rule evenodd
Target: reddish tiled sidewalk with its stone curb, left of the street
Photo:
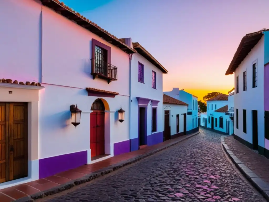
<path id="1" fill-rule="evenodd" d="M 72 188 L 73 186 L 89 182 L 99 176 L 106 175 L 123 166 L 140 161 L 147 156 L 160 152 L 179 142 L 182 142 L 199 132 L 184 135 L 172 140 L 167 140 L 160 144 L 143 149 L 113 156 L 104 161 L 96 162 L 90 165 L 83 165 L 76 169 L 57 173 L 56 175 L 39 179 L 33 182 L 20 184 L 0 190 L 0 201 L 11 202 L 18 200 L 20 202 L 33 201 L 34 199 L 44 198 L 48 195 L 56 194 L 61 191 Z"/>

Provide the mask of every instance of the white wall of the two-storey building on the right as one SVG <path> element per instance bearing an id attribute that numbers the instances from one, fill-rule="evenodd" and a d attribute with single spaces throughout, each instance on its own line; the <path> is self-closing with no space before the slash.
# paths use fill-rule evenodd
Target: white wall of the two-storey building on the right
<path id="1" fill-rule="evenodd" d="M 252 88 L 252 64 L 257 61 L 257 87 Z M 246 71 L 247 90 L 243 91 L 243 72 Z M 258 110 L 258 144 L 264 147 L 264 37 L 241 62 L 235 73 L 234 111 L 238 109 L 239 128 L 234 133 L 252 143 L 252 110 Z M 236 93 L 236 77 L 239 76 L 239 93 Z M 246 109 L 247 133 L 243 133 L 243 109 Z"/>

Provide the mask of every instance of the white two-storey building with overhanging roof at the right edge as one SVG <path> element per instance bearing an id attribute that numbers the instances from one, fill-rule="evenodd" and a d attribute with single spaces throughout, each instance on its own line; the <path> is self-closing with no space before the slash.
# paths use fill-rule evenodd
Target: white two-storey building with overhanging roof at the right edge
<path id="1" fill-rule="evenodd" d="M 269 30 L 246 34 L 226 71 L 235 75 L 234 138 L 269 158 Z M 266 128 L 266 131 L 264 130 Z"/>

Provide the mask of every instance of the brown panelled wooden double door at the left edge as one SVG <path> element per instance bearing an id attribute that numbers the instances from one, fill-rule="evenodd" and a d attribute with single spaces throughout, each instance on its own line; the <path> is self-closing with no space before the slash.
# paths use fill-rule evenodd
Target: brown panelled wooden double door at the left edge
<path id="1" fill-rule="evenodd" d="M 27 103 L 0 103 L 0 183 L 27 177 Z"/>

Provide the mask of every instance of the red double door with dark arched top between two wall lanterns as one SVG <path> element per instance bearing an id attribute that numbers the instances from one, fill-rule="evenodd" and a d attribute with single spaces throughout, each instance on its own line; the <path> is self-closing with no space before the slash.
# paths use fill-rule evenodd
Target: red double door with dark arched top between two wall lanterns
<path id="1" fill-rule="evenodd" d="M 91 105 L 90 148 L 91 157 L 105 154 L 105 105 L 96 99 Z"/>

